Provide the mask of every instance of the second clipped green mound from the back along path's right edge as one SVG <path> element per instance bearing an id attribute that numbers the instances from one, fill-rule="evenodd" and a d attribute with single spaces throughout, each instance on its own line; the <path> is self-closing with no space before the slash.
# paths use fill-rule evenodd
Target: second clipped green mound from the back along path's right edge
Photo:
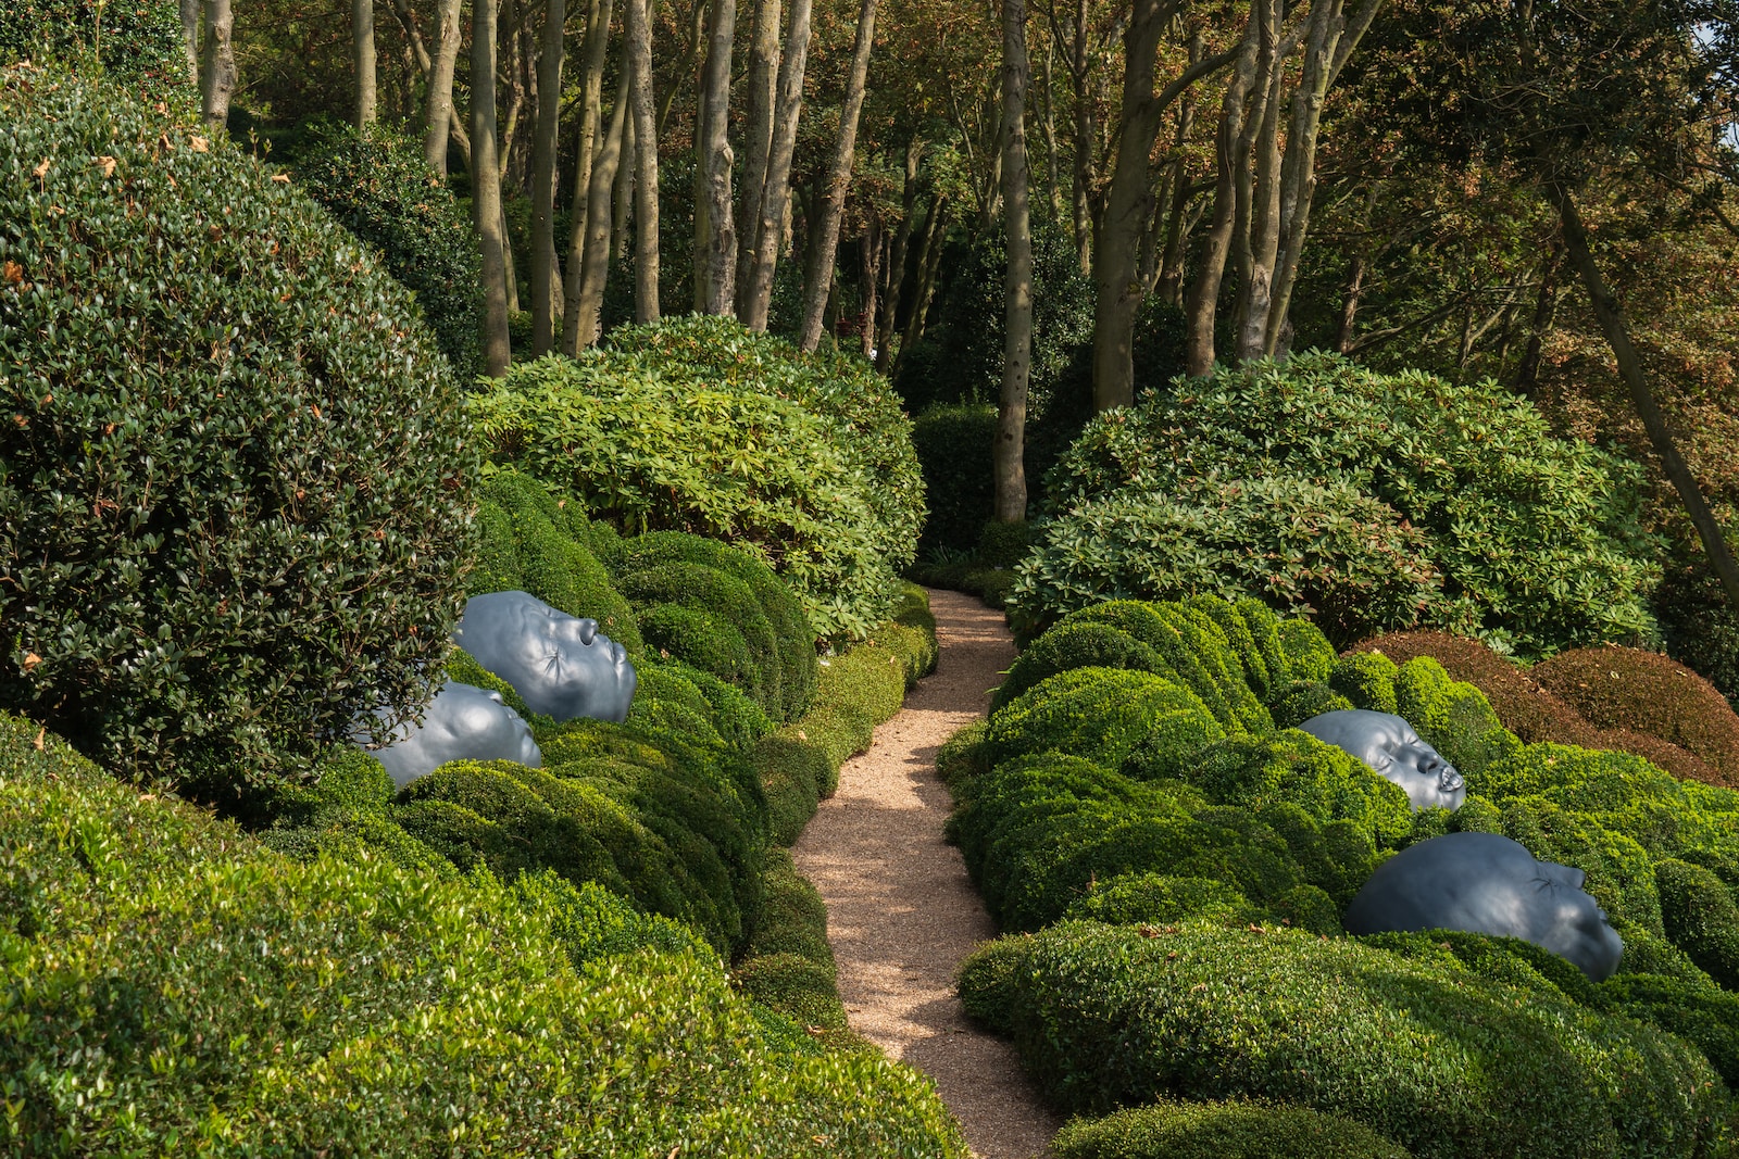
<path id="1" fill-rule="evenodd" d="M 1193 692 L 1163 676 L 1078 667 L 1016 697 L 991 718 L 984 744 L 993 765 L 1056 751 L 1116 768 L 1170 712 L 1207 716 Z"/>

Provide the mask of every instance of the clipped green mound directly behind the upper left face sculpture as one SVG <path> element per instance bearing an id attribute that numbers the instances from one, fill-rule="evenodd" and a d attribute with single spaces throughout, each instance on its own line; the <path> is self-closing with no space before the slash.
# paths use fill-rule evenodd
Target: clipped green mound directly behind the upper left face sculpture
<path id="1" fill-rule="evenodd" d="M 628 599 L 591 551 L 579 500 L 551 495 L 518 471 L 494 471 L 478 495 L 480 546 L 468 596 L 523 591 L 551 608 L 598 622 L 598 631 L 640 659 L 645 643 Z"/>

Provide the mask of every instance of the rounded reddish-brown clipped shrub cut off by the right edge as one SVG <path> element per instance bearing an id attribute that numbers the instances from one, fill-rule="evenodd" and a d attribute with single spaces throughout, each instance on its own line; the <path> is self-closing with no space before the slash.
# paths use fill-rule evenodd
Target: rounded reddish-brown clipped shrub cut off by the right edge
<path id="1" fill-rule="evenodd" d="M 1534 679 L 1600 728 L 1659 737 L 1739 780 L 1739 716 L 1678 660 L 1640 648 L 1574 648 L 1534 666 Z"/>

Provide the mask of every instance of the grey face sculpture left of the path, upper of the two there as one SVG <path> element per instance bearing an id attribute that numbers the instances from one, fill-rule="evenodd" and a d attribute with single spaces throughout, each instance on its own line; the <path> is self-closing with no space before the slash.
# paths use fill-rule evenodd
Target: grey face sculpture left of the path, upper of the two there
<path id="1" fill-rule="evenodd" d="M 551 608 L 523 591 L 471 596 L 452 641 L 513 685 L 532 712 L 570 721 L 628 719 L 635 666 L 598 622 Z"/>

